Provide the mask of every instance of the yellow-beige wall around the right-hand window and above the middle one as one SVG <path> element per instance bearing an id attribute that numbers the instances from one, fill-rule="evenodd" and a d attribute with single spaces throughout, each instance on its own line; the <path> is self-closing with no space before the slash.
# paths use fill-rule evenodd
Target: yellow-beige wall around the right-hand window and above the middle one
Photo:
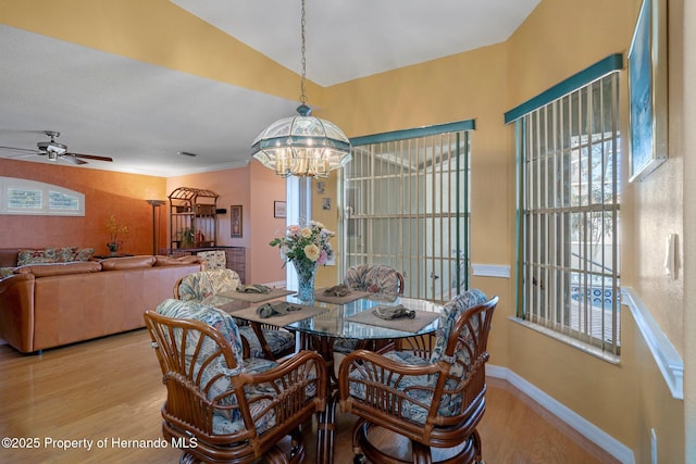
<path id="1" fill-rule="evenodd" d="M 670 3 L 671 23 L 679 23 L 681 3 Z M 475 118 L 472 261 L 513 265 L 514 147 L 502 114 L 607 55 L 625 52 L 638 7 L 638 0 L 545 0 L 508 42 L 335 86 L 321 116 L 349 136 Z M 681 25 L 671 32 L 673 52 L 681 49 Z M 680 64 L 670 70 L 680 71 Z M 625 73 L 621 79 L 627 134 Z M 670 90 L 673 105 L 682 89 Z M 624 179 L 622 284 L 637 290 L 683 353 L 683 276 L 669 281 L 663 274 L 664 235 L 683 235 L 682 171 L 680 155 L 670 151 L 670 162 L 645 183 Z M 474 277 L 473 285 L 501 297 L 490 336 L 494 364 L 623 442 L 636 462 L 649 462 L 650 428 L 658 435 L 659 462 L 684 461 L 683 404 L 672 399 L 626 306 L 621 363 L 613 365 L 510 321 L 513 279 Z"/>

